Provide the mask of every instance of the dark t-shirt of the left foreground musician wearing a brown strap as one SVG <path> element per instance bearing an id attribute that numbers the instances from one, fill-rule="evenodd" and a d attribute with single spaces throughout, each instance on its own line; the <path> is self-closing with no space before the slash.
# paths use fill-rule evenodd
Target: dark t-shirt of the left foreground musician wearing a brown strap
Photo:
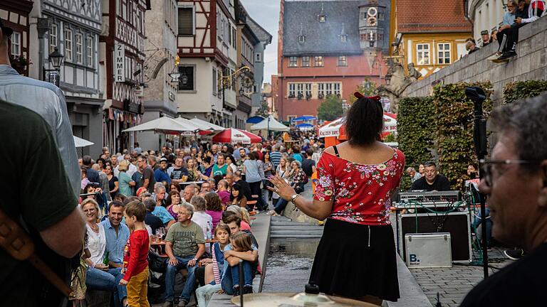
<path id="1" fill-rule="evenodd" d="M 24 220 L 38 257 L 56 274 L 65 271 L 70 278 L 70 271 L 62 266 L 66 259 L 46 247 L 39 235 L 78 205 L 51 127 L 30 109 L 0 101 L 0 131 L 2 173 L 10 174 L 0 176 L 6 192 L 0 209 L 16 222 Z M 39 296 L 55 288 L 29 262 L 18 261 L 0 248 L 0 264 L 1 306 L 53 306 Z"/>

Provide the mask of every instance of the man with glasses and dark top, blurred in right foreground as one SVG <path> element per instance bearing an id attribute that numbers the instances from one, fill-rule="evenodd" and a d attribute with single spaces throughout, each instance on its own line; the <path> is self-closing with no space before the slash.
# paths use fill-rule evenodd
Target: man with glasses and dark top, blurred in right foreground
<path id="1" fill-rule="evenodd" d="M 547 276 L 547 95 L 494 110 L 499 133 L 481 161 L 496 240 L 527 254 L 481 281 L 461 306 L 545 306 Z"/>

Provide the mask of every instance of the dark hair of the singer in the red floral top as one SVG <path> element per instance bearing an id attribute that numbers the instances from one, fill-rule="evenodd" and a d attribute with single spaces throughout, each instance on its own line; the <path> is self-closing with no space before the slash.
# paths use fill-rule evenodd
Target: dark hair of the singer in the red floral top
<path id="1" fill-rule="evenodd" d="M 380 141 L 384 126 L 384 109 L 379 99 L 361 97 L 345 117 L 345 133 L 352 145 L 369 145 Z"/>

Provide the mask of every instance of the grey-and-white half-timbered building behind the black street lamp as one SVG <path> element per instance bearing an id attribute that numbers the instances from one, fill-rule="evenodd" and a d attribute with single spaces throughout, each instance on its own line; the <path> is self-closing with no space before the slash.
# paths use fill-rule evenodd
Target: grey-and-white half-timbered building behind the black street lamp
<path id="1" fill-rule="evenodd" d="M 73 134 L 95 143 L 78 149 L 80 155 L 96 156 L 102 145 L 98 129 L 104 103 L 98 61 L 101 7 L 101 0 L 41 0 L 34 1 L 30 15 L 30 76 L 48 80 L 53 70 L 50 53 L 57 49 L 64 56 L 59 87 L 66 97 Z M 46 24 L 46 35 L 38 33 L 38 19 L 47 21 L 40 22 Z"/>

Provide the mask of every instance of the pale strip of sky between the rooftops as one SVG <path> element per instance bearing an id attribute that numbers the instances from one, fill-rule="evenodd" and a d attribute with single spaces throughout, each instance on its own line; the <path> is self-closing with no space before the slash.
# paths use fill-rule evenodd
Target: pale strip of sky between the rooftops
<path id="1" fill-rule="evenodd" d="M 264 53 L 264 82 L 271 82 L 277 74 L 277 31 L 279 22 L 279 0 L 239 0 L 249 16 L 268 31 L 272 38 Z"/>

